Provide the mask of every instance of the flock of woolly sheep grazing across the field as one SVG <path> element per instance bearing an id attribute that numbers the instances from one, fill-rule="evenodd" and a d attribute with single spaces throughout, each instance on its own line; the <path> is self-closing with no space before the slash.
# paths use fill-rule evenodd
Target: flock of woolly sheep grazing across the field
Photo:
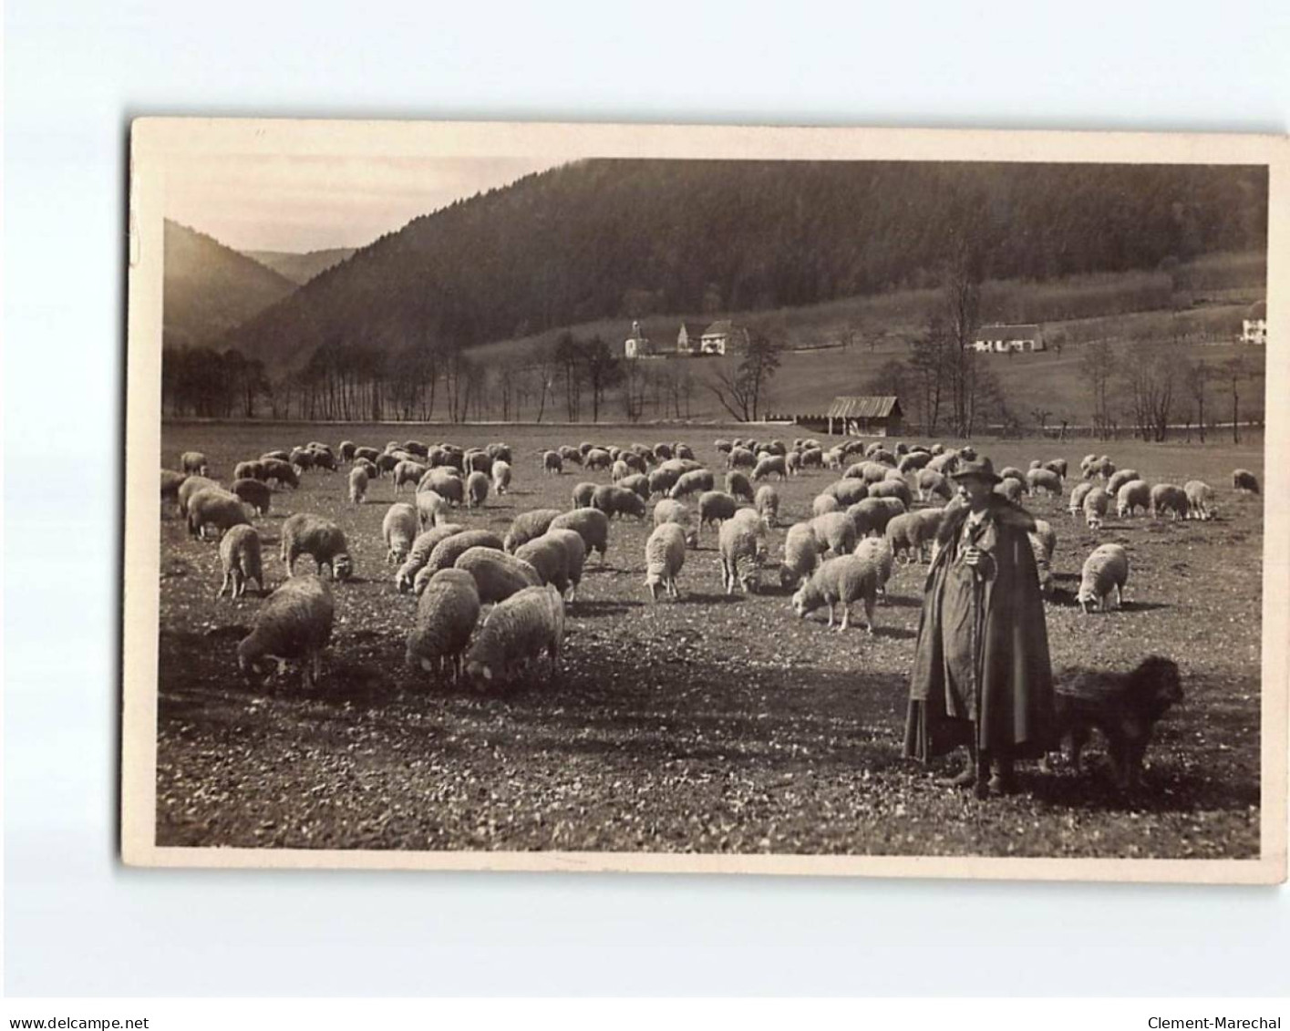
<path id="1" fill-rule="evenodd" d="M 192 537 L 215 532 L 219 595 L 239 597 L 250 581 L 264 592 L 261 537 L 252 520 L 268 512 L 283 488 L 298 486 L 306 474 L 347 466 L 348 499 L 361 505 L 369 485 L 388 477 L 396 495 L 405 489 L 409 495 L 388 507 L 382 524 L 392 588 L 418 596 L 406 659 L 430 672 L 488 683 L 510 679 L 543 654 L 555 670 L 565 606 L 575 604 L 587 557 L 596 552 L 604 564 L 613 519 L 651 515 L 645 543 L 651 600 L 660 591 L 680 595 L 686 554 L 710 529 L 717 534 L 722 590 L 757 591 L 761 572 L 771 564 L 771 532 L 780 523 L 775 484 L 808 470 L 837 470 L 837 479 L 815 497 L 810 519 L 787 528 L 775 556 L 780 588 L 792 591 L 797 616 L 827 608 L 828 625 L 844 631 L 859 603 L 872 634 L 875 604 L 885 596 L 895 563 L 934 557 L 940 521 L 961 503 L 949 477 L 960 459 L 974 457 L 970 448 L 859 440 L 827 450 L 815 440 L 717 440 L 716 450 L 724 470 L 706 467 L 684 443 L 583 443 L 544 450 L 538 462 L 543 475 L 562 475 L 573 466 L 608 474 L 609 481 L 577 483 L 568 510 L 520 512 L 501 537 L 454 521 L 454 512 L 480 508 L 490 495 L 510 490 L 513 458 L 506 444 L 462 448 L 409 440 L 378 450 L 344 441 L 333 450 L 315 441 L 236 463 L 227 489 L 209 476 L 205 455 L 188 452 L 178 471 L 161 471 L 161 498 L 178 506 Z M 1000 475 L 996 490 L 1013 502 L 1024 494 L 1066 495 L 1064 459 L 1035 461 L 1026 471 L 1007 467 Z M 1233 472 L 1232 485 L 1259 489 L 1246 470 Z M 1157 519 L 1210 519 L 1214 497 L 1198 480 L 1149 484 L 1136 470 L 1117 470 L 1106 455 L 1090 454 L 1069 492 L 1069 512 L 1093 530 L 1112 503 L 1120 517 L 1140 508 Z M 1036 520 L 1032 546 L 1045 597 L 1053 594 L 1055 545 L 1051 524 Z M 303 556 L 313 560 L 315 574 L 295 573 Z M 259 676 L 267 659 L 299 661 L 310 686 L 332 636 L 332 583 L 352 574 L 353 560 L 342 529 L 310 512 L 294 512 L 283 523 L 280 557 L 288 578 L 261 604 L 252 632 L 239 644 L 239 666 Z M 1078 604 L 1085 612 L 1106 609 L 1113 595 L 1118 605 L 1129 569 L 1126 548 L 1096 547 L 1084 563 Z"/>

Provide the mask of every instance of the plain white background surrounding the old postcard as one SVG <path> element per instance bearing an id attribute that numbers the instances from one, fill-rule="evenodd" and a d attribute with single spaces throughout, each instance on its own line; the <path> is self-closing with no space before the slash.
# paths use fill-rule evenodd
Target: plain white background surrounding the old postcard
<path id="1" fill-rule="evenodd" d="M 5 22 L 9 994 L 1287 994 L 1285 889 L 133 871 L 115 808 L 129 117 L 1284 133 L 1290 5 L 25 0 Z"/>

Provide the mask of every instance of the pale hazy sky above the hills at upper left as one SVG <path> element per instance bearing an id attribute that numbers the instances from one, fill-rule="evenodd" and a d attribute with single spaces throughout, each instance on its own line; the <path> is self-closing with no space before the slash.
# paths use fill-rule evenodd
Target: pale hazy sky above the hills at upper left
<path id="1" fill-rule="evenodd" d="M 524 157 L 203 156 L 172 163 L 166 218 L 237 250 L 364 246 L 417 215 L 555 164 Z"/>

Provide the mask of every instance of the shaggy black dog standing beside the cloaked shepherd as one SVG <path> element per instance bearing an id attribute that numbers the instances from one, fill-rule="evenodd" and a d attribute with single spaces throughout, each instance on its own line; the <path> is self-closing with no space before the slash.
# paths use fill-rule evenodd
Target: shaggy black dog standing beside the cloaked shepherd
<path id="1" fill-rule="evenodd" d="M 1057 676 L 1054 741 L 1071 742 L 1071 761 L 1080 772 L 1080 752 L 1093 729 L 1103 733 L 1124 788 L 1138 785 L 1142 759 L 1156 720 L 1183 701 L 1178 663 L 1149 656 L 1129 674 L 1068 668 Z"/>

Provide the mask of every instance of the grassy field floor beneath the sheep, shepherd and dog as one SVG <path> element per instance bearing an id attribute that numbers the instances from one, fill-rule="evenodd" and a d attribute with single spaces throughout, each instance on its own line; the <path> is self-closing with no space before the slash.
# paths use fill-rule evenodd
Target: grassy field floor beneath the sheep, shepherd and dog
<path id="1" fill-rule="evenodd" d="M 499 436 L 515 449 L 515 489 L 471 526 L 502 530 L 535 507 L 568 507 L 579 480 L 543 476 L 538 452 L 583 439 L 688 439 L 716 470 L 712 441 L 748 427 L 409 427 L 172 425 L 163 463 L 199 449 L 227 483 L 235 461 L 342 437 L 383 446 L 414 436 L 463 445 Z M 791 437 L 791 431 L 778 430 Z M 700 436 L 702 434 L 702 436 Z M 770 436 L 770 431 L 765 436 Z M 978 443 L 996 466 L 1085 448 Z M 1078 448 L 1078 450 L 1076 450 Z M 1091 450 L 1091 448 L 1089 448 Z M 721 592 L 713 536 L 691 551 L 677 603 L 644 588 L 649 523 L 614 523 L 569 608 L 559 676 L 480 694 L 404 667 L 415 599 L 384 564 L 390 480 L 344 501 L 343 475 L 310 472 L 258 519 L 270 587 L 281 520 L 335 519 L 356 578 L 338 585 L 337 626 L 320 688 L 288 677 L 252 688 L 237 640 L 259 605 L 217 600 L 212 543 L 161 525 L 157 844 L 378 849 L 590 849 L 938 856 L 1251 857 L 1259 849 L 1259 656 L 1263 511 L 1229 489 L 1231 470 L 1262 476 L 1262 450 L 1124 443 L 1099 448 L 1151 480 L 1204 479 L 1213 523 L 1112 520 L 1094 536 L 1051 499 L 1032 511 L 1059 542 L 1047 605 L 1054 666 L 1122 670 L 1157 652 L 1183 667 L 1187 697 L 1157 728 L 1143 791 L 1120 796 L 1106 770 L 1076 777 L 1023 766 L 1023 792 L 978 803 L 942 783 L 948 766 L 902 757 L 907 676 L 925 566 L 899 568 L 875 636 L 793 617 L 774 570 L 764 591 Z M 782 525 L 809 515 L 836 474 L 779 485 Z M 1073 604 L 1090 548 L 1122 542 L 1133 573 L 1121 612 Z M 307 561 L 306 561 L 307 565 Z M 1094 760 L 1098 756 L 1093 756 Z M 957 757 L 952 765 L 957 766 Z"/>

